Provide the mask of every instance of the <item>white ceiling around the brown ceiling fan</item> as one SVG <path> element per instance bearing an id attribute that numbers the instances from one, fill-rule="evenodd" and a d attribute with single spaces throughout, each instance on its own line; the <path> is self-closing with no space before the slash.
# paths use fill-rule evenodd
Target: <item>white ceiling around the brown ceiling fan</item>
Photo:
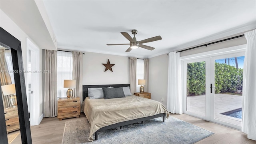
<path id="1" fill-rule="evenodd" d="M 173 50 L 256 28 L 256 1 L 125 1 L 44 0 L 58 49 L 150 58 Z M 162 40 L 125 52 L 129 43 L 120 32 L 138 30 L 138 41 Z M 217 37 L 216 37 L 217 36 Z M 132 36 L 133 37 L 133 36 Z"/>

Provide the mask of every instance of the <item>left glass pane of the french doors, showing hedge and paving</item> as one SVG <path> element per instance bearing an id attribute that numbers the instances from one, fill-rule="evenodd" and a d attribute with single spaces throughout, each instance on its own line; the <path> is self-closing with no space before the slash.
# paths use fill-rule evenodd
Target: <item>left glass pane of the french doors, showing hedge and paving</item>
<path id="1" fill-rule="evenodd" d="M 187 111 L 201 116 L 206 116 L 205 74 L 205 61 L 187 64 Z"/>

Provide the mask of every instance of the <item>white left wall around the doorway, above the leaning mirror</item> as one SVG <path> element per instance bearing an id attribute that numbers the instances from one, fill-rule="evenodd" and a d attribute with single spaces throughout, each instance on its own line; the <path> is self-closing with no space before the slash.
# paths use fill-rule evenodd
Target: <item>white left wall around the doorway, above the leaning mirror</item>
<path id="1" fill-rule="evenodd" d="M 0 26 L 12 34 L 15 38 L 20 40 L 21 42 L 21 48 L 22 48 L 22 60 L 23 60 L 23 68 L 24 70 L 27 70 L 27 64 L 26 64 L 26 58 L 27 58 L 27 50 L 26 50 L 26 38 L 29 38 L 28 35 L 20 29 L 18 25 L 16 25 L 2 10 L 0 10 Z M 30 38 L 29 38 L 30 39 Z M 31 40 L 31 39 L 30 39 Z M 31 40 L 32 41 L 32 40 Z M 32 41 L 33 42 L 33 41 Z M 42 48 L 39 49 L 39 61 L 40 61 L 40 66 L 39 70 L 42 70 Z M 26 82 L 26 73 L 24 74 L 25 76 L 25 82 Z M 39 96 L 37 98 L 39 99 L 39 104 L 38 104 L 38 116 L 41 116 L 43 114 L 43 108 L 42 108 L 42 74 L 39 76 L 39 84 L 40 84 L 40 90 L 39 90 Z"/>

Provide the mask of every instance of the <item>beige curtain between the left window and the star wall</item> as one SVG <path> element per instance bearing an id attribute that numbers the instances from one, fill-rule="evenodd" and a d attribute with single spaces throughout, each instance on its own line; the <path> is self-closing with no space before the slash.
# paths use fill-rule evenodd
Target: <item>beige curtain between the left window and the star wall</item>
<path id="1" fill-rule="evenodd" d="M 80 97 L 80 104 L 83 102 L 82 86 L 82 52 L 72 52 L 73 56 L 73 80 L 76 80 L 74 88 L 74 97 Z"/>

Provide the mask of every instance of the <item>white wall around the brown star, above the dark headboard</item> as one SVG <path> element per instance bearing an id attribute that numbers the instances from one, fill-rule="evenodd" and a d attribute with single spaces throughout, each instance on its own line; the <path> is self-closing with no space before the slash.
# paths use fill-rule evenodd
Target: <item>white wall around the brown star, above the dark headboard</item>
<path id="1" fill-rule="evenodd" d="M 113 72 L 105 71 L 106 64 L 110 61 Z M 127 56 L 99 54 L 86 52 L 83 55 L 83 85 L 94 84 L 130 84 L 129 59 Z"/>

